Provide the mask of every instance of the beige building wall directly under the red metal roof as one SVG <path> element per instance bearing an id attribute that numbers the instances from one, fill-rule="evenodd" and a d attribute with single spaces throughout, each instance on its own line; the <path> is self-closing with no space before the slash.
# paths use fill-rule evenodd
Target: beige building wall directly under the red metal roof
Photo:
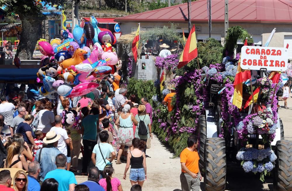
<path id="1" fill-rule="evenodd" d="M 203 22 L 196 22 L 192 23 L 195 24 L 196 27 L 200 26 L 200 30 L 196 31 L 196 34 L 209 34 L 209 26 L 208 23 Z M 246 29 L 251 35 L 255 36 L 262 36 L 263 45 L 265 44 L 266 40 L 269 38 L 270 33 L 274 28 L 276 28 L 276 32 L 270 42 L 270 47 L 286 47 L 284 45 L 284 35 L 292 35 L 291 24 L 266 24 L 266 23 L 229 23 L 229 27 L 232 26 L 241 26 Z M 140 28 L 151 29 L 154 27 L 162 28 L 163 26 L 170 26 L 168 22 L 140 22 Z M 121 23 L 121 32 L 122 34 L 128 34 L 132 31 L 136 31 L 138 28 L 138 22 L 122 22 Z M 188 33 L 188 24 L 187 23 L 179 23 L 177 29 L 181 31 L 184 29 L 185 33 Z M 145 30 L 145 29 L 144 29 Z M 221 41 L 224 41 L 224 23 L 212 23 L 212 35 L 221 35 Z"/>

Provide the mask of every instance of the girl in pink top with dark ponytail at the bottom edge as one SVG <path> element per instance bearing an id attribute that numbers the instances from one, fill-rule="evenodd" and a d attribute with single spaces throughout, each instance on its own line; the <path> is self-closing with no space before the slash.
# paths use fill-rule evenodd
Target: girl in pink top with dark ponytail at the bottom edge
<path id="1" fill-rule="evenodd" d="M 112 177 L 114 168 L 112 164 L 108 163 L 103 170 L 105 178 L 100 179 L 98 182 L 105 191 L 123 191 L 121 181 L 118 178 Z"/>

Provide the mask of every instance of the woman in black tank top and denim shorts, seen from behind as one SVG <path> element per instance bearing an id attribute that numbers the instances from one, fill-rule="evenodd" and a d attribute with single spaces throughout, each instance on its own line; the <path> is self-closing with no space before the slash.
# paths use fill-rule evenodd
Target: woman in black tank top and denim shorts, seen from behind
<path id="1" fill-rule="evenodd" d="M 133 150 L 128 153 L 127 165 L 124 172 L 124 179 L 126 180 L 126 173 L 130 167 L 130 182 L 131 185 L 139 184 L 143 186 L 144 181 L 147 179 L 147 169 L 146 169 L 146 156 L 143 152 L 146 142 L 138 138 L 134 138 L 132 141 Z"/>

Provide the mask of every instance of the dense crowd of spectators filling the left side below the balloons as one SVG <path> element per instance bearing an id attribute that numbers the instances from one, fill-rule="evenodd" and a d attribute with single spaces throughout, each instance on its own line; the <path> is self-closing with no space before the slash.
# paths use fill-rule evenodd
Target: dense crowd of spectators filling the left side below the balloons
<path id="1" fill-rule="evenodd" d="M 146 97 L 127 98 L 119 79 L 114 75 L 114 80 L 102 80 L 93 92 L 72 99 L 36 98 L 25 84 L 9 86 L 0 96 L 0 168 L 7 169 L 0 171 L 1 190 L 11 190 L 13 184 L 18 191 L 121 191 L 119 178 L 113 176 L 114 160 L 126 163 L 120 178 L 126 179 L 131 168 L 131 190 L 141 190 L 147 180 L 152 107 Z M 74 114 L 73 125 L 66 125 L 66 112 Z M 12 181 L 11 168 L 19 169 Z M 75 172 L 88 181 L 77 185 Z"/>

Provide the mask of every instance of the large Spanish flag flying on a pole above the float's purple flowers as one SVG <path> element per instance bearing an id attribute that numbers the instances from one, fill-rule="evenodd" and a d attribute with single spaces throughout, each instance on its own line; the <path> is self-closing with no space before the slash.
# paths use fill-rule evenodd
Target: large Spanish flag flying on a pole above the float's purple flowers
<path id="1" fill-rule="evenodd" d="M 197 39 L 195 32 L 195 25 L 192 27 L 192 30 L 187 38 L 187 43 L 185 44 L 185 48 L 180 56 L 180 61 L 178 62 L 178 69 L 185 66 L 187 63 L 192 61 L 194 58 L 198 56 L 197 49 Z"/>

